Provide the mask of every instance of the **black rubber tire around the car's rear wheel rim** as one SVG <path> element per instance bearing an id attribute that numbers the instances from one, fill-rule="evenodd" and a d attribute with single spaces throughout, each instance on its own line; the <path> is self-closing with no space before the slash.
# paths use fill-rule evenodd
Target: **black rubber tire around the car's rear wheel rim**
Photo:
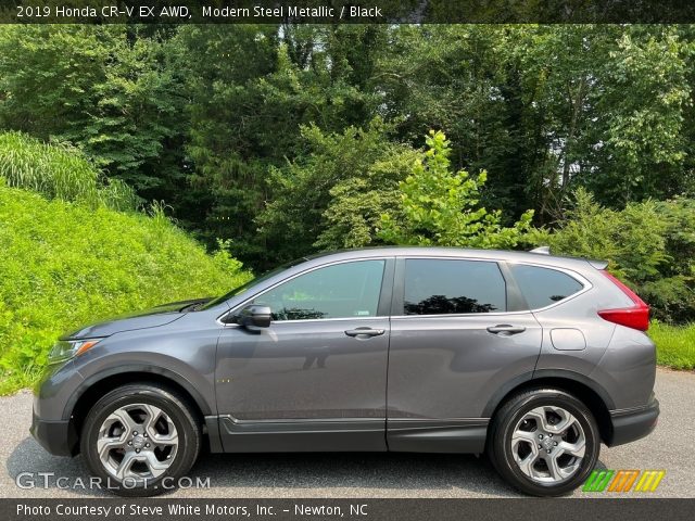
<path id="1" fill-rule="evenodd" d="M 560 483 L 539 483 L 525 474 L 514 459 L 511 434 L 531 409 L 558 406 L 570 412 L 584 431 L 585 453 L 579 468 Z M 495 414 L 488 437 L 488 454 L 500 475 L 515 488 L 533 496 L 563 496 L 582 485 L 596 466 L 601 435 L 593 415 L 571 394 L 556 389 L 533 389 L 511 396 Z"/>

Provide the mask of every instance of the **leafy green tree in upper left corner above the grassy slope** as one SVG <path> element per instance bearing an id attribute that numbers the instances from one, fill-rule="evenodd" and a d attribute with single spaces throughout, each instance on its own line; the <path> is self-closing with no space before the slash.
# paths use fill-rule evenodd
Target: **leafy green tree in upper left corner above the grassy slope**
<path id="1" fill-rule="evenodd" d="M 0 127 L 68 141 L 144 199 L 174 200 L 184 99 L 166 46 L 137 26 L 0 26 Z"/>

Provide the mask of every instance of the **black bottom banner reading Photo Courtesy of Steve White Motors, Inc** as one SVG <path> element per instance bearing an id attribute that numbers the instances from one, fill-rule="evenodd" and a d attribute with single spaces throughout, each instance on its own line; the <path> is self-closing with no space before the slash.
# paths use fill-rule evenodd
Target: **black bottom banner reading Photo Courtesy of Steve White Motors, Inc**
<path id="1" fill-rule="evenodd" d="M 695 499 L 0 499 L 0 520 L 692 520 Z"/>

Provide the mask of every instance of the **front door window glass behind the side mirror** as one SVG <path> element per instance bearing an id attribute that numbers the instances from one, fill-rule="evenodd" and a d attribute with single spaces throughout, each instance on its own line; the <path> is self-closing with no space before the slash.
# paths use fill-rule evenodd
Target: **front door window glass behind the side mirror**
<path id="1" fill-rule="evenodd" d="M 374 317 L 384 260 L 358 260 L 318 268 L 253 300 L 270 306 L 274 320 Z"/>

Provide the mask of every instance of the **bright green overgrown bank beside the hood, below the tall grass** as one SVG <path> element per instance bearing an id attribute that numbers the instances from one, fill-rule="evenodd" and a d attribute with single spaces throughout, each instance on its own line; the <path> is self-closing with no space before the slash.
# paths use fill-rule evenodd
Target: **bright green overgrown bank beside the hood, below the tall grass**
<path id="1" fill-rule="evenodd" d="M 0 178 L 0 393 L 31 384 L 66 330 L 248 278 L 226 247 L 207 255 L 161 208 L 47 201 Z"/>

